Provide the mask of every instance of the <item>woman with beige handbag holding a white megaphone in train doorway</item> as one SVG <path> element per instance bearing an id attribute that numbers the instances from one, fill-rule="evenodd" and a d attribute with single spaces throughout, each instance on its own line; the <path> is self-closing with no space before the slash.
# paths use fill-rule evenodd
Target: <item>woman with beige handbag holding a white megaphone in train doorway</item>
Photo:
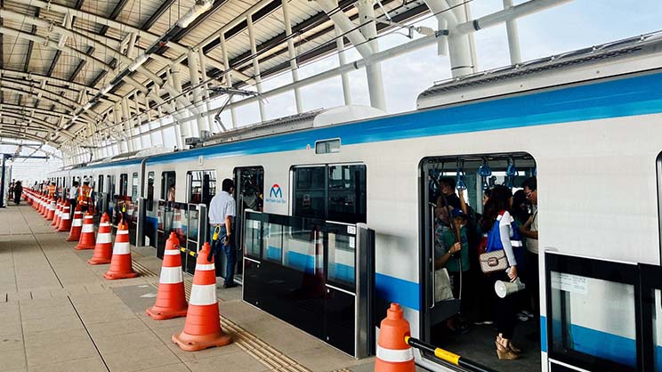
<path id="1" fill-rule="evenodd" d="M 513 247 L 521 247 L 519 230 L 513 227 L 513 192 L 505 186 L 497 185 L 492 190 L 483 214 L 483 229 L 488 231 L 487 253 L 480 255 L 480 267 L 490 274 L 492 284 L 497 280 L 514 281 L 517 275 L 517 260 Z M 500 360 L 516 360 L 521 350 L 513 346 L 511 340 L 515 328 L 516 298 L 498 297 L 494 291 L 495 320 L 497 321 L 497 356 Z"/>

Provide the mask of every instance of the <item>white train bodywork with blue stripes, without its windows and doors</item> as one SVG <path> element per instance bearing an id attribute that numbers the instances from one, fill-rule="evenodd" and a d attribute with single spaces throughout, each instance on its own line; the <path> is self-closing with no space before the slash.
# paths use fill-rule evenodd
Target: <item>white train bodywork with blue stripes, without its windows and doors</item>
<path id="1" fill-rule="evenodd" d="M 294 166 L 364 165 L 367 226 L 375 230 L 376 238 L 377 292 L 405 307 L 412 336 L 418 336 L 422 310 L 427 306 L 422 287 L 425 206 L 421 194 L 427 182 L 421 171 L 423 160 L 527 153 L 535 159 L 539 185 L 541 316 L 545 319 L 544 250 L 660 263 L 656 167 L 662 150 L 662 53 L 658 53 L 660 46 L 655 41 L 637 48 L 614 53 L 613 58 L 586 59 L 567 66 L 540 62 L 540 67 L 549 68 L 521 77 L 494 82 L 472 77 L 439 85 L 420 97 L 419 110 L 414 112 L 51 176 L 86 174 L 96 181 L 100 174 L 115 174 L 117 180 L 119 174 L 129 174 L 131 190 L 131 174 L 137 172 L 141 177 L 139 192 L 144 197 L 145 177 L 154 172 L 157 199 L 162 172 L 174 171 L 179 186 L 186 184 L 187 172 L 214 170 L 216 190 L 220 190 L 222 179 L 233 178 L 235 168 L 262 166 L 263 211 L 292 214 Z M 476 84 L 454 86 L 464 82 Z M 335 138 L 342 142 L 338 152 L 316 154 L 315 142 Z M 282 198 L 268 196 L 276 184 Z M 177 187 L 175 199 L 187 201 L 186 192 L 186 188 Z M 592 301 L 613 303 L 618 295 L 609 290 L 596 292 L 601 298 Z M 615 306 L 592 313 L 574 308 L 577 316 L 573 320 L 605 335 L 634 339 L 634 329 L 614 321 L 632 318 L 631 310 L 634 308 Z M 543 370 L 547 370 L 545 351 L 543 344 Z M 446 370 L 418 358 L 428 368 Z"/>

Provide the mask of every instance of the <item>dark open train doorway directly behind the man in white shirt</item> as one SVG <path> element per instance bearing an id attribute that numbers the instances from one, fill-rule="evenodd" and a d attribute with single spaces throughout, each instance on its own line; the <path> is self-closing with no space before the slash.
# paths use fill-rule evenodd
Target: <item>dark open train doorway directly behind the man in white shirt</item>
<path id="1" fill-rule="evenodd" d="M 249 166 L 235 168 L 235 200 L 237 200 L 237 216 L 235 217 L 235 231 L 243 231 L 243 217 L 246 209 L 262 211 L 262 198 L 264 195 L 264 168 L 262 166 Z M 242 233 L 236 233 L 235 247 L 238 247 L 237 256 L 243 257 Z M 237 260 L 237 277 L 242 280 L 244 274 L 243 260 Z"/>

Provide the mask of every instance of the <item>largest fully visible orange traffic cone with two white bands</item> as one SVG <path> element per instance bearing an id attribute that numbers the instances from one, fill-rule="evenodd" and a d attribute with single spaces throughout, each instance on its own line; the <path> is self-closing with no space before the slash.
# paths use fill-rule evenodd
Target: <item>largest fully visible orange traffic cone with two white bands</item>
<path id="1" fill-rule="evenodd" d="M 205 243 L 198 252 L 184 330 L 173 335 L 173 342 L 186 352 L 224 346 L 232 342 L 232 337 L 222 331 L 219 321 L 214 257 L 212 261 L 207 261 L 210 249 L 209 243 Z"/>

